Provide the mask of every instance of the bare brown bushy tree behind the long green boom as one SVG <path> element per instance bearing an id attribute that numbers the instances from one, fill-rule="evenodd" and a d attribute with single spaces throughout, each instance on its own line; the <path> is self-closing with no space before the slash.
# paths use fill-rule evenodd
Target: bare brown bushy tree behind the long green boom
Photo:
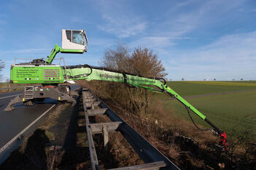
<path id="1" fill-rule="evenodd" d="M 105 52 L 103 66 L 113 70 L 125 71 L 138 76 L 163 78 L 167 75 L 158 55 L 147 48 L 137 47 L 131 56 L 125 46 L 108 49 Z M 141 88 L 127 88 L 124 84 L 109 83 L 109 96 L 117 99 L 139 116 L 147 112 L 149 95 Z M 126 98 L 125 98 L 126 97 Z M 122 101 L 123 99 L 123 101 Z"/>

